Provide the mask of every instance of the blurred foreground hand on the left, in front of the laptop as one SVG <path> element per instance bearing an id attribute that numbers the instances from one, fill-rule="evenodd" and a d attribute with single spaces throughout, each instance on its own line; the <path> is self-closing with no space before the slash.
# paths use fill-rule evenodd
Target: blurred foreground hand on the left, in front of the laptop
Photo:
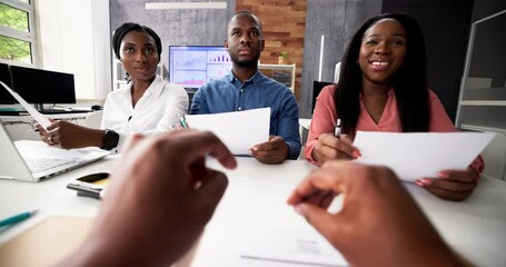
<path id="1" fill-rule="evenodd" d="M 236 160 L 210 132 L 136 136 L 111 175 L 111 185 L 87 243 L 62 265 L 170 266 L 194 244 L 227 187 L 222 172 Z"/>

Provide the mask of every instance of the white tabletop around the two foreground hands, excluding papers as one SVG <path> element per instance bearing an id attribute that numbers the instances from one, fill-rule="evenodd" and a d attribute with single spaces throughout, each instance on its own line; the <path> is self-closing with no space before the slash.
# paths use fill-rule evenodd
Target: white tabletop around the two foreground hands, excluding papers
<path id="1" fill-rule="evenodd" d="M 111 170 L 116 157 L 118 156 L 108 157 L 39 184 L 0 180 L 0 218 L 36 208 L 70 215 L 96 215 L 100 202 L 77 197 L 73 190 L 66 188 L 66 184 L 75 177 Z M 251 158 L 238 158 L 238 164 L 236 170 L 225 170 L 229 187 L 192 251 L 195 258 L 189 264 L 191 266 L 231 266 L 224 265 L 225 260 L 221 265 L 204 261 L 209 254 L 218 259 L 230 257 L 232 251 L 217 246 L 220 240 L 215 239 L 220 236 L 214 231 L 224 226 L 235 226 L 238 229 L 264 226 L 310 229 L 286 205 L 286 198 L 314 166 L 305 160 L 287 160 L 282 165 L 269 166 Z M 222 169 L 215 160 L 209 160 L 209 165 Z M 456 251 L 477 266 L 506 264 L 506 182 L 484 177 L 474 195 L 464 202 L 444 201 L 413 184 L 405 186 Z M 337 198 L 337 202 L 340 200 Z M 232 246 L 240 247 L 241 244 Z"/>

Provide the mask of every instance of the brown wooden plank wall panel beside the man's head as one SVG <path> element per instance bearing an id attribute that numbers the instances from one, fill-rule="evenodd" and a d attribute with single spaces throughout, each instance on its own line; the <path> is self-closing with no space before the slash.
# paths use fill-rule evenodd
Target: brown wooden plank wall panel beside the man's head
<path id="1" fill-rule="evenodd" d="M 261 21 L 266 48 L 262 63 L 278 63 L 281 52 L 288 52 L 287 63 L 297 65 L 295 96 L 300 98 L 304 38 L 307 0 L 237 0 L 236 11 L 249 10 Z"/>

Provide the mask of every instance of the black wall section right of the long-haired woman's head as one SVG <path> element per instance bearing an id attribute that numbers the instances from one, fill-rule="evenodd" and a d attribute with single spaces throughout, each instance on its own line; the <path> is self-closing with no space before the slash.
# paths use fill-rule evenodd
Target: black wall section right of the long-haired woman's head
<path id="1" fill-rule="evenodd" d="M 474 0 L 384 0 L 383 12 L 419 22 L 427 46 L 427 82 L 455 122 Z M 478 1 L 476 1 L 478 2 Z"/>

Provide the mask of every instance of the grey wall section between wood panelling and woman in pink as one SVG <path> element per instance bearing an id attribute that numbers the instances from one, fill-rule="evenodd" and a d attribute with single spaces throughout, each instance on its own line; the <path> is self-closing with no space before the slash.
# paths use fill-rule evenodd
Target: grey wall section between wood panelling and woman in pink
<path id="1" fill-rule="evenodd" d="M 379 13 L 380 4 L 377 0 L 307 0 L 301 118 L 311 117 L 312 82 L 318 80 L 321 36 L 325 36 L 321 81 L 331 82 L 335 66 L 340 62 L 349 39 L 366 18 Z"/>

